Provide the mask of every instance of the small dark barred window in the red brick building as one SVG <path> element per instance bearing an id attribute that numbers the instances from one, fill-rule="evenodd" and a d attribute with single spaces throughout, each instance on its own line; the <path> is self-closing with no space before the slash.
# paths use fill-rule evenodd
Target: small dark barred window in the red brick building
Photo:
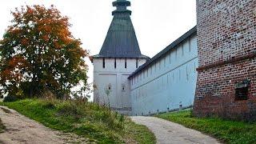
<path id="1" fill-rule="evenodd" d="M 248 99 L 248 90 L 250 86 L 249 80 L 244 80 L 235 84 L 235 100 L 247 100 Z"/>

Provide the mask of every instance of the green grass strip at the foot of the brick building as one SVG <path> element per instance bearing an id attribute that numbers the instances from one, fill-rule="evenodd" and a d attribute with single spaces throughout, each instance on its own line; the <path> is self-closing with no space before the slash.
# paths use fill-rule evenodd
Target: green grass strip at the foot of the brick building
<path id="1" fill-rule="evenodd" d="M 234 122 L 221 118 L 195 118 L 191 113 L 191 110 L 184 110 L 156 116 L 209 134 L 225 143 L 256 143 L 256 123 Z"/>

